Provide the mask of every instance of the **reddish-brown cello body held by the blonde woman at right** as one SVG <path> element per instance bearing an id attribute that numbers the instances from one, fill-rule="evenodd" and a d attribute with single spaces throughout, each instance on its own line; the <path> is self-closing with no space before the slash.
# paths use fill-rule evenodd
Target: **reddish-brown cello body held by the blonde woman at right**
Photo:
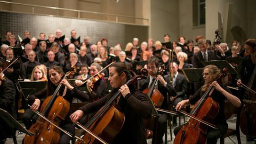
<path id="1" fill-rule="evenodd" d="M 211 122 L 218 115 L 218 112 L 219 104 L 208 97 L 194 116 L 206 122 Z M 207 125 L 190 118 L 188 123 L 180 129 L 173 143 L 205 143 L 206 134 Z"/>

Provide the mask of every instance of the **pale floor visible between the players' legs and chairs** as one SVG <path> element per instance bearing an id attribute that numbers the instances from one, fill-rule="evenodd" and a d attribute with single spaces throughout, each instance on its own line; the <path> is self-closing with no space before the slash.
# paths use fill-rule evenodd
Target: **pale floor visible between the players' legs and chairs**
<path id="1" fill-rule="evenodd" d="M 188 117 L 186 117 L 186 120 L 188 120 Z M 229 120 L 228 120 L 228 125 L 229 125 L 229 128 L 231 128 L 231 129 L 234 129 L 235 128 L 235 122 L 236 122 L 236 117 L 235 116 L 233 116 L 233 117 L 231 117 Z M 181 120 L 181 123 L 183 123 L 183 120 Z M 173 128 L 172 128 L 173 129 Z M 169 131 L 169 129 L 167 130 L 168 132 L 170 132 Z M 172 130 L 173 131 L 173 130 Z M 17 141 L 18 141 L 18 143 L 22 143 L 22 139 L 25 137 L 25 134 L 18 134 L 18 132 L 17 132 Z M 173 135 L 173 138 L 174 138 L 174 135 Z M 164 138 L 163 138 L 164 139 Z M 167 135 L 167 143 L 173 143 L 173 140 L 171 141 L 171 139 L 170 139 L 170 133 L 168 133 L 168 135 Z M 151 143 L 151 140 L 149 139 L 149 140 L 147 140 L 148 141 L 148 143 L 150 144 Z M 164 140 L 165 141 L 165 140 Z M 234 142 L 233 142 L 234 141 Z M 247 142 L 246 141 L 246 137 L 245 137 L 245 135 L 241 132 L 241 142 L 243 143 L 243 144 L 245 144 L 245 143 L 247 143 L 247 144 L 252 144 L 252 143 L 254 143 L 254 141 L 251 141 L 251 142 Z M 12 139 L 7 139 L 7 141 L 6 141 L 6 144 L 12 144 L 13 143 L 13 140 Z M 219 142 L 218 142 L 219 143 Z M 236 136 L 235 135 L 233 135 L 233 136 L 231 136 L 230 138 L 225 138 L 225 144 L 234 144 L 234 143 L 237 143 L 237 139 L 236 139 Z"/>

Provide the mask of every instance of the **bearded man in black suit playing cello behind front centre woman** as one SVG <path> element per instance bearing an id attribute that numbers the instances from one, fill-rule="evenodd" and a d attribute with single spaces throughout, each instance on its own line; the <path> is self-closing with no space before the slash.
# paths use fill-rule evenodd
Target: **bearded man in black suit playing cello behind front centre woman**
<path id="1" fill-rule="evenodd" d="M 152 57 L 147 61 L 147 69 L 149 76 L 147 79 L 139 81 L 139 89 L 140 91 L 143 91 L 151 87 L 151 84 L 154 82 L 155 79 L 157 79 L 158 82 L 155 85 L 155 89 L 161 92 L 164 97 L 164 101 L 161 108 L 170 110 L 170 105 L 167 101 L 167 93 L 169 93 L 170 95 L 176 95 L 176 92 L 173 89 L 173 86 L 170 84 L 170 81 L 168 82 L 167 79 L 164 79 L 162 75 L 157 75 L 158 65 L 159 62 L 155 57 Z M 151 97 L 151 95 L 149 95 L 149 97 Z M 165 113 L 161 113 L 161 115 L 158 118 L 157 143 L 163 143 L 163 136 L 167 129 L 166 121 L 167 115 Z"/>

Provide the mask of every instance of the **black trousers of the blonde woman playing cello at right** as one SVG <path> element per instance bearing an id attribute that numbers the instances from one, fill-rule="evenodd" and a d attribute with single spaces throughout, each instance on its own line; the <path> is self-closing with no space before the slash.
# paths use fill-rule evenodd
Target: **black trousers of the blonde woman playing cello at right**
<path id="1" fill-rule="evenodd" d="M 220 138 L 221 135 L 225 134 L 228 131 L 228 124 L 227 123 L 219 123 L 215 124 L 217 126 L 217 129 L 213 129 L 211 127 L 208 127 L 207 129 L 207 139 L 206 143 L 207 144 L 215 144 L 217 143 L 218 139 Z M 179 130 L 181 129 L 183 125 L 176 127 L 173 130 L 174 135 L 177 135 Z M 193 137 L 193 135 L 191 135 Z"/>

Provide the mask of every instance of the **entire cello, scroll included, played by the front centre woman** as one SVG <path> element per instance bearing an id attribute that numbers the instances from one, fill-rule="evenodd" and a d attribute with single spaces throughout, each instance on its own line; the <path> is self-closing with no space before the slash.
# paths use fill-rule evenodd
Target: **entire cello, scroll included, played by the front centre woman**
<path id="1" fill-rule="evenodd" d="M 142 74 L 143 75 L 132 77 L 125 84 L 135 84 L 137 81 L 145 79 L 147 77 L 147 70 L 143 70 Z M 119 111 L 115 105 L 116 99 L 120 96 L 121 92 L 116 92 L 85 125 L 85 128 L 89 129 L 93 134 L 98 135 L 106 142 L 113 141 L 124 124 L 124 114 Z M 79 131 L 79 133 L 81 132 L 82 130 Z M 85 143 L 99 143 L 99 141 L 88 132 L 83 135 L 82 139 L 83 141 L 77 140 L 76 143 L 83 143 L 84 141 Z"/>

